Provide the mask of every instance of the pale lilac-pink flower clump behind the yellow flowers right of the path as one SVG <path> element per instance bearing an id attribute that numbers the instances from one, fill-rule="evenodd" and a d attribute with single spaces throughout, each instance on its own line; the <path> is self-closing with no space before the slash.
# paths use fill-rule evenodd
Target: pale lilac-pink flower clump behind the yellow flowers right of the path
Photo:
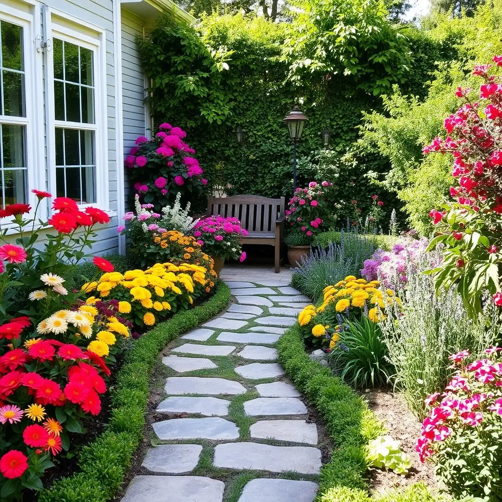
<path id="1" fill-rule="evenodd" d="M 416 274 L 421 265 L 430 265 L 431 256 L 426 256 L 429 241 L 403 238 L 391 251 L 376 249 L 369 260 L 365 260 L 361 275 L 367 281 L 382 280 L 387 288 L 399 289 L 406 285 L 408 277 Z"/>

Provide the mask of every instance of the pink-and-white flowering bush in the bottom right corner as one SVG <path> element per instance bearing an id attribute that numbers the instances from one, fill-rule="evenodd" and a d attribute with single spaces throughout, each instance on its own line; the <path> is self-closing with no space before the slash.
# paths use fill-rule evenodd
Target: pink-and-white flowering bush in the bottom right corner
<path id="1" fill-rule="evenodd" d="M 468 363 L 469 351 L 452 354 L 456 371 L 445 388 L 425 400 L 430 407 L 416 450 L 435 464 L 438 480 L 454 497 L 499 500 L 502 495 L 502 362 L 500 347 Z"/>

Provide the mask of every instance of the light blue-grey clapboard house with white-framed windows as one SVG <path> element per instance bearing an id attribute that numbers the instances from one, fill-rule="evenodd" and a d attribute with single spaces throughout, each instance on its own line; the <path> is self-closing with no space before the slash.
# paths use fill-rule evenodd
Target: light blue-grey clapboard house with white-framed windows
<path id="1" fill-rule="evenodd" d="M 93 252 L 123 252 L 123 154 L 151 122 L 136 40 L 166 11 L 192 21 L 171 0 L 0 0 L 0 208 L 34 188 L 99 207 Z"/>

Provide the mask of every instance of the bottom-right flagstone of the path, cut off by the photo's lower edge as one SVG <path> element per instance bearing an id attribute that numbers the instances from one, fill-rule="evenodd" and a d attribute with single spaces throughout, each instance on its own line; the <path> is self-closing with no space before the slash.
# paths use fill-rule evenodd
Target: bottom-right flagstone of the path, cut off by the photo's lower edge
<path id="1" fill-rule="evenodd" d="M 312 481 L 291 479 L 252 479 L 242 490 L 238 502 L 264 502 L 264 493 L 270 502 L 313 502 L 317 484 Z"/>

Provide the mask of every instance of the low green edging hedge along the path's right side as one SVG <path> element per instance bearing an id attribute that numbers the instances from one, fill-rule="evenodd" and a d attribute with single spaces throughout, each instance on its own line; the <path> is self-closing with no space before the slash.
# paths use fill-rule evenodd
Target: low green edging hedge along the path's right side
<path id="1" fill-rule="evenodd" d="M 331 461 L 321 467 L 317 502 L 434 502 L 422 483 L 370 498 L 364 474 L 365 447 L 386 431 L 366 403 L 331 370 L 305 352 L 298 324 L 278 342 L 279 362 L 297 389 L 308 397 L 334 442 Z"/>

